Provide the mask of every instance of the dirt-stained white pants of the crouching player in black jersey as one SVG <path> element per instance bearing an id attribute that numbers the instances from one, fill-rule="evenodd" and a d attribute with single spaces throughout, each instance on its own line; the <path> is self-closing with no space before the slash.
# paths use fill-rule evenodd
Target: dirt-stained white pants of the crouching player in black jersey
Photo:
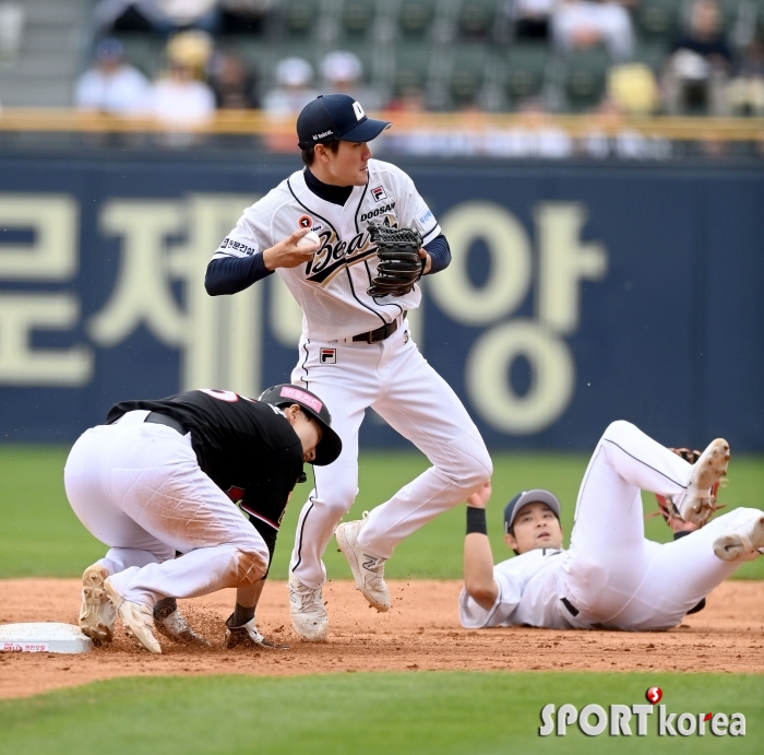
<path id="1" fill-rule="evenodd" d="M 88 429 L 67 459 L 69 503 L 109 546 L 98 564 L 126 600 L 150 606 L 261 579 L 265 541 L 202 472 L 191 435 L 144 424 L 146 414 Z"/>

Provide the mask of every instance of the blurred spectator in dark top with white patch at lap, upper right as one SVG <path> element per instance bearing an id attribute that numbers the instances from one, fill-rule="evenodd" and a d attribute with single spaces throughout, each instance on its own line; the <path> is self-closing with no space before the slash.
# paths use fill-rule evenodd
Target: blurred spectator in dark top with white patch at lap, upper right
<path id="1" fill-rule="evenodd" d="M 728 111 L 726 86 L 732 55 L 720 27 L 714 0 L 695 0 L 690 30 L 667 61 L 664 98 L 670 115 L 688 111 L 714 116 Z"/>

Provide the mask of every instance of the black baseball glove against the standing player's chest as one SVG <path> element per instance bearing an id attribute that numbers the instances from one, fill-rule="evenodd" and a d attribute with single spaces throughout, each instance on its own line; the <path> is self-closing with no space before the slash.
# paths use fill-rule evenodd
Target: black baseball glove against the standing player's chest
<path id="1" fill-rule="evenodd" d="M 369 235 L 380 258 L 369 296 L 403 296 L 421 278 L 425 258 L 419 257 L 421 236 L 414 228 L 369 224 Z"/>

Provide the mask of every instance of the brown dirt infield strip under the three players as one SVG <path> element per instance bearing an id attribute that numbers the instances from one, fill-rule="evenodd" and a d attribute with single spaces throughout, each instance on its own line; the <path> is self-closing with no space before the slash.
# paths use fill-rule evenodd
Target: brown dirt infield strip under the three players
<path id="1" fill-rule="evenodd" d="M 725 671 L 764 673 L 764 582 L 729 581 L 701 613 L 665 633 L 463 629 L 456 617 L 457 581 L 391 582 L 393 610 L 369 609 L 350 582 L 330 582 L 329 642 L 297 639 L 283 582 L 266 586 L 259 625 L 289 651 L 225 651 L 223 622 L 234 592 L 183 601 L 191 624 L 214 647 L 189 649 L 160 638 L 163 656 L 135 649 L 118 626 L 105 648 L 80 656 L 0 652 L 0 698 L 34 695 L 114 676 L 240 673 L 285 675 L 428 669 Z M 76 623 L 79 580 L 0 580 L 0 623 Z"/>

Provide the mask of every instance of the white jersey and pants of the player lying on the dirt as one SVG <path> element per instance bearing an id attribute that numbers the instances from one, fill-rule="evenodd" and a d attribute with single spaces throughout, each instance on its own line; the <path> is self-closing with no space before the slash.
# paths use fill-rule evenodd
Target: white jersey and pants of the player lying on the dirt
<path id="1" fill-rule="evenodd" d="M 462 590 L 468 628 L 669 629 L 739 565 L 714 554 L 714 541 L 761 517 L 738 508 L 671 543 L 644 536 L 641 491 L 682 496 L 692 467 L 628 422 L 605 432 L 578 493 L 568 551 L 538 548 L 498 564 L 494 604 Z"/>

